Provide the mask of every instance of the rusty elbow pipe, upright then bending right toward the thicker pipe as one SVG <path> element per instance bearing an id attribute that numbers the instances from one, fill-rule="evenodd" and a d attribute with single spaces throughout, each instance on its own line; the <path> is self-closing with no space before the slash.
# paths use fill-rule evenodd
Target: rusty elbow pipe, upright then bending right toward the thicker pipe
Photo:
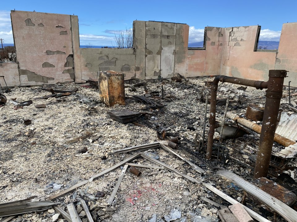
<path id="1" fill-rule="evenodd" d="M 216 123 L 216 111 L 217 111 L 217 87 L 219 81 L 221 82 L 229 82 L 234 84 L 240 84 L 244 86 L 251 86 L 257 89 L 267 88 L 268 82 L 263 81 L 254 81 L 254 80 L 246 80 L 240 78 L 234 78 L 229 76 L 216 76 L 213 80 L 213 84 L 211 85 L 211 93 L 210 93 L 210 110 L 209 110 L 209 132 L 208 132 L 208 142 L 207 142 L 207 150 L 206 150 L 206 158 L 211 159 L 211 153 L 213 149 L 213 135 L 215 130 Z"/>

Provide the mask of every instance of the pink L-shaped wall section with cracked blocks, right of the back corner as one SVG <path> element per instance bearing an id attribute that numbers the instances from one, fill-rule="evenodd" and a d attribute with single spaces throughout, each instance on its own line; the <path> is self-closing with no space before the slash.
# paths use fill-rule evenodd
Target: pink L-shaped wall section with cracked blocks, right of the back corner
<path id="1" fill-rule="evenodd" d="M 268 80 L 274 69 L 275 51 L 254 51 L 258 26 L 222 28 L 221 75 L 251 80 Z"/>

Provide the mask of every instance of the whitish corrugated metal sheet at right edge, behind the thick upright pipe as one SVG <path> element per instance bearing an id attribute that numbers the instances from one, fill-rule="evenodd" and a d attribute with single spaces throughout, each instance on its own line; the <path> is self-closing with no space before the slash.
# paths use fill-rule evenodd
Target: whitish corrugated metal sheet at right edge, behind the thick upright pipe
<path id="1" fill-rule="evenodd" d="M 282 135 L 290 140 L 297 140 L 297 114 L 289 115 L 282 112 L 275 133 Z"/>

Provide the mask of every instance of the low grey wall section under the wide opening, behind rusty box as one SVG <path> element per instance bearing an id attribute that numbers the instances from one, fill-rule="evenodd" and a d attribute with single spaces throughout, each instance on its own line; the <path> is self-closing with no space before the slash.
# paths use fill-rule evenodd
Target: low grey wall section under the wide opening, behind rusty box
<path id="1" fill-rule="evenodd" d="M 135 78 L 134 49 L 81 48 L 81 78 L 97 80 L 97 72 L 113 70 L 124 73 L 125 79 Z"/>

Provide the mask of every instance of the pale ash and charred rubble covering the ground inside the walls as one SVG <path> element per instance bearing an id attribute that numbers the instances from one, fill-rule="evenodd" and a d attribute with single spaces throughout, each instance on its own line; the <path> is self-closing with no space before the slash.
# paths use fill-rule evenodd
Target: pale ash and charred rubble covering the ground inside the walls
<path id="1" fill-rule="evenodd" d="M 94 221 L 166 221 L 165 216 L 170 217 L 173 209 L 178 209 L 181 213 L 178 219 L 180 221 L 217 221 L 219 209 L 229 205 L 224 199 L 236 204 L 236 199 L 242 199 L 244 191 L 235 190 L 232 186 L 227 187 L 230 182 L 214 176 L 217 159 L 215 149 L 215 158 L 205 161 L 203 150 L 206 140 L 202 140 L 205 102 L 201 103 L 200 97 L 207 93 L 204 81 L 211 79 L 204 77 L 182 82 L 146 81 L 146 91 L 160 97 L 153 97 L 158 103 L 162 100 L 161 85 L 166 95 L 174 96 L 174 99 L 170 98 L 171 101 L 166 100 L 166 106 L 156 109 L 153 107 L 153 112 L 147 105 L 134 101 L 131 96 L 125 98 L 126 105 L 106 107 L 99 101 L 97 89 L 86 88 L 80 84 L 51 86 L 57 90 L 79 90 L 67 97 L 49 97 L 42 100 L 46 106 L 43 109 L 36 109 L 35 105 L 39 103 L 38 100 L 33 100 L 34 97 L 48 95 L 48 92 L 40 90 L 40 87 L 14 88 L 11 94 L 5 94 L 9 101 L 12 98 L 17 98 L 18 101 L 31 99 L 32 106 L 15 110 L 13 104 L 6 103 L 0 107 L 3 113 L 0 119 L 0 202 L 25 199 L 29 193 L 37 195 L 37 201 L 60 202 L 53 206 L 55 212 L 32 212 L 11 220 L 48 222 L 52 221 L 55 214 L 60 214 L 56 221 L 71 221 L 67 205 L 73 203 L 82 221 L 87 221 L 88 211 L 88 219 L 91 215 Z M 138 80 L 130 80 L 129 83 L 135 86 L 137 82 Z M 126 88 L 125 93 L 142 95 L 143 84 L 135 87 L 139 86 L 141 88 L 137 88 L 135 92 Z M 228 83 L 222 83 L 220 86 L 218 96 L 234 97 L 234 101 L 238 102 L 230 103 L 229 110 L 240 117 L 244 117 L 245 108 L 250 103 L 249 98 L 259 98 L 261 103 L 265 94 L 257 91 L 255 95 L 255 91 L 250 87 L 245 91 L 238 90 L 236 85 Z M 157 93 L 152 93 L 154 91 Z M 294 96 L 291 94 L 291 97 Z M 110 119 L 108 112 L 122 109 L 155 115 L 141 115 L 137 119 L 139 125 Z M 223 120 L 224 109 L 223 106 L 217 108 L 217 119 L 220 121 Z M 30 125 L 23 124 L 27 119 L 32 121 Z M 156 126 L 166 131 L 163 141 L 156 137 Z M 206 132 L 208 127 L 206 120 Z M 243 138 L 256 142 L 259 140 L 259 134 L 246 130 L 251 135 L 245 135 Z M 166 146 L 171 138 L 178 144 L 175 150 Z M 219 134 L 215 133 L 215 144 L 218 139 Z M 253 171 L 252 167 L 248 167 L 251 164 L 248 160 L 256 152 L 257 146 L 244 146 L 240 149 L 244 154 L 239 155 L 235 148 L 239 149 L 241 146 L 236 141 L 222 139 L 221 145 L 229 150 L 229 155 L 226 155 L 227 150 L 224 150 L 226 165 L 223 166 L 223 154 L 220 154 L 218 167 L 223 166 L 226 170 L 232 170 L 251 181 Z M 277 152 L 284 148 L 277 143 L 273 146 Z M 247 166 L 235 160 L 239 156 L 243 158 L 243 155 L 248 156 L 247 161 L 240 160 Z M 294 154 L 288 161 L 294 166 Z M 123 169 L 120 167 L 129 165 L 141 167 L 142 174 L 139 177 L 127 171 L 122 174 Z M 291 170 L 294 174 L 293 168 Z M 122 181 L 120 186 L 117 186 L 121 175 Z M 54 184 L 57 184 L 55 188 L 60 188 L 53 189 Z M 50 194 L 44 191 L 49 190 L 45 189 L 47 185 L 51 186 L 47 187 L 52 189 Z M 230 196 L 221 195 L 219 191 Z M 108 199 L 113 192 L 114 199 L 110 203 Z M 82 209 L 82 198 L 85 199 L 88 211 Z M 217 206 L 213 205 L 212 201 L 217 203 Z M 246 205 L 250 207 L 248 204 Z M 258 221 L 273 218 L 273 213 L 263 213 L 262 210 L 260 212 L 259 207 L 251 207 L 253 210 L 248 207 L 245 206 L 245 210 Z M 1 219 L 4 218 L 0 218 L 0 221 Z M 280 216 L 278 219 L 281 220 Z"/>

